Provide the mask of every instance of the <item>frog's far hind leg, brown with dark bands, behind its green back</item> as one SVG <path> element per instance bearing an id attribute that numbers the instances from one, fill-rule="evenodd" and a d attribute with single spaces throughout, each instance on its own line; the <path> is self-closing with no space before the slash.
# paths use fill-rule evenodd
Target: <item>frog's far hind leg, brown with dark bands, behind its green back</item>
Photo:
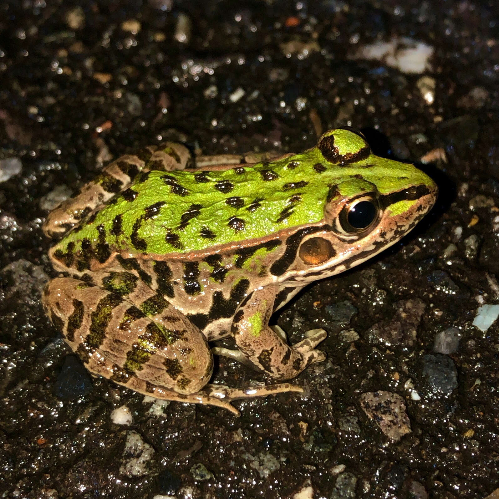
<path id="1" fill-rule="evenodd" d="M 43 232 L 61 237 L 81 219 L 90 216 L 116 194 L 128 189 L 139 173 L 151 170 L 182 170 L 191 162 L 189 150 L 182 144 L 166 142 L 127 154 L 105 166 L 100 175 L 62 202 L 47 217 Z"/>

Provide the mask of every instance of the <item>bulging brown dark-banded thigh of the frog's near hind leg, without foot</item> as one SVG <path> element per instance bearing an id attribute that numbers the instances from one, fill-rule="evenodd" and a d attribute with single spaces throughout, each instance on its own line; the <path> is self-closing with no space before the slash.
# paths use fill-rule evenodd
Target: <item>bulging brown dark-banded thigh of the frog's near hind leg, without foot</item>
<path id="1" fill-rule="evenodd" d="M 206 338 L 173 306 L 159 323 L 147 315 L 150 310 L 70 277 L 49 281 L 42 301 L 53 324 L 94 374 L 156 397 L 158 388 L 197 392 L 211 377 L 213 356 Z"/>

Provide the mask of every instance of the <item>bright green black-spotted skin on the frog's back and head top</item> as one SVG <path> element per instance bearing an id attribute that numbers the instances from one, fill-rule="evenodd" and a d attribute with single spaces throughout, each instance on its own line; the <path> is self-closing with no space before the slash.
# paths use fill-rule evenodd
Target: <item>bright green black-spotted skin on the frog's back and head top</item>
<path id="1" fill-rule="evenodd" d="M 348 138 L 344 142 L 342 152 L 348 152 Z M 331 189 L 338 187 L 347 196 L 369 189 L 365 183 L 352 182 L 356 176 L 373 184 L 380 195 L 427 181 L 413 165 L 373 154 L 338 167 L 316 147 L 251 167 L 150 171 L 139 175 L 81 231 L 68 234 L 58 248 L 65 251 L 73 243 L 76 252 L 85 238 L 98 241 L 102 231 L 113 250 L 133 254 L 210 251 L 247 243 L 321 222 Z M 343 184 L 345 180 L 350 183 Z M 119 231 L 113 231 L 116 217 L 121 218 Z M 166 235 L 171 237 L 165 239 Z"/>

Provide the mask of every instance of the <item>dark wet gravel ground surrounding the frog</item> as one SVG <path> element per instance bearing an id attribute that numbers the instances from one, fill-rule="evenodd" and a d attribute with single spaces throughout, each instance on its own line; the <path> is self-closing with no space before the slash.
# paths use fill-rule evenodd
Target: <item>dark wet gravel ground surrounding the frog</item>
<path id="1" fill-rule="evenodd" d="M 497 498 L 498 25 L 492 0 L 1 3 L 1 497 Z M 336 126 L 441 195 L 275 318 L 328 332 L 306 396 L 238 419 L 91 379 L 40 305 L 48 210 L 135 147 L 300 151 Z M 224 358 L 215 380 L 269 381 Z"/>

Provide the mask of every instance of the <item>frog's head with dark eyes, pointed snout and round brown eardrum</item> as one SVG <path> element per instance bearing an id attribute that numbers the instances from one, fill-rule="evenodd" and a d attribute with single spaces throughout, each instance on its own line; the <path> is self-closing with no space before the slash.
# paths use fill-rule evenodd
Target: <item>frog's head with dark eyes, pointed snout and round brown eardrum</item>
<path id="1" fill-rule="evenodd" d="M 324 218 L 292 241 L 295 257 L 281 275 L 287 282 L 334 275 L 371 258 L 407 234 L 437 197 L 430 177 L 375 156 L 350 130 L 326 132 L 317 149 L 329 173 Z"/>

